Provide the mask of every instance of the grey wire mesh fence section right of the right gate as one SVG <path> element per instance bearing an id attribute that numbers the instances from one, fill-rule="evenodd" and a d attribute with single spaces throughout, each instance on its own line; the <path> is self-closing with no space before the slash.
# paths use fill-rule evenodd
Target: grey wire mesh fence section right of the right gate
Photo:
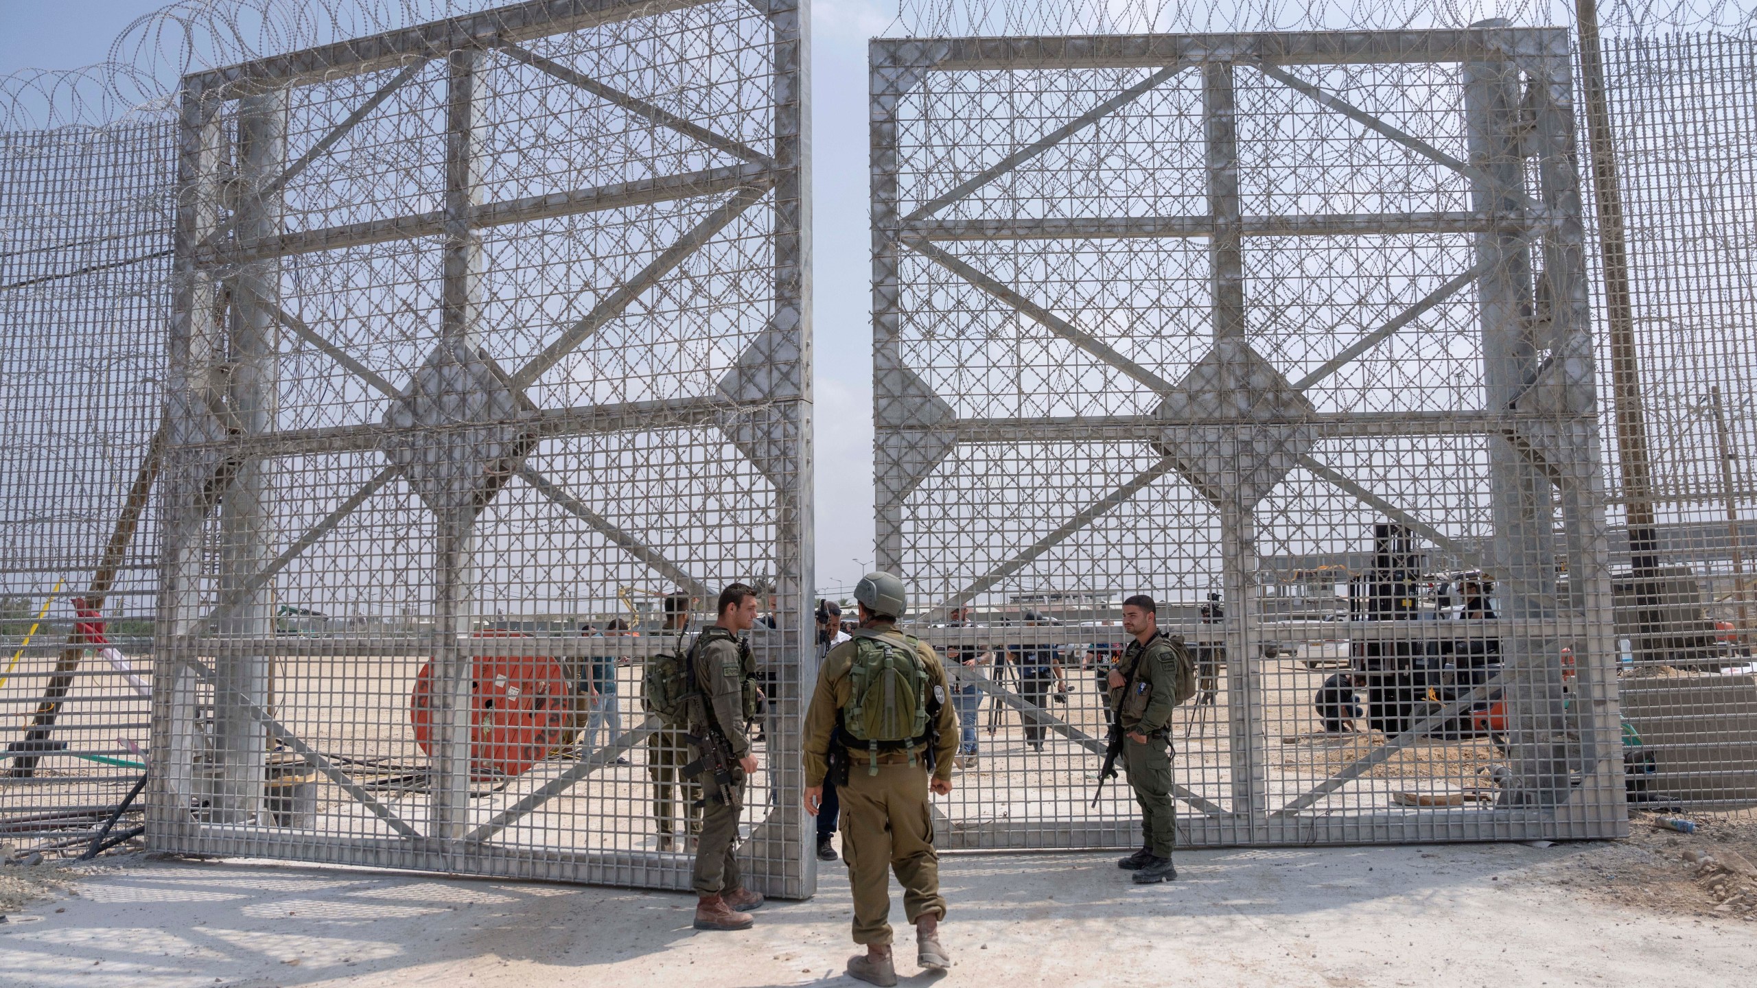
<path id="1" fill-rule="evenodd" d="M 1757 302 L 1746 264 L 1757 44 L 1618 39 L 1606 44 L 1604 67 L 1629 244 L 1632 383 L 1652 461 L 1646 498 L 1613 473 L 1625 756 L 1650 805 L 1748 810 L 1757 805 Z M 1618 315 L 1602 308 L 1604 320 Z"/>

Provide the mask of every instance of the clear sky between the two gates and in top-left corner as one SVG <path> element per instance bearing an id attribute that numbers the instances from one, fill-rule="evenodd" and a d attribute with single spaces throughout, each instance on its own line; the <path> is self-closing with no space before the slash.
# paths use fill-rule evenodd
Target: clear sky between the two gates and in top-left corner
<path id="1" fill-rule="evenodd" d="M 102 62 L 123 28 L 160 5 L 0 0 L 0 74 Z M 812 5 L 819 585 L 852 585 L 871 564 L 866 39 L 894 12 L 891 0 Z"/>

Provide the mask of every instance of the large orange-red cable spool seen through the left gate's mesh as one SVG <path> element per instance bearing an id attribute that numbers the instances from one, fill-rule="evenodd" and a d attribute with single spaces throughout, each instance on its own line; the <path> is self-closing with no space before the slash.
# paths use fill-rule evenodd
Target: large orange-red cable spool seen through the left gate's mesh
<path id="1" fill-rule="evenodd" d="M 487 631 L 471 638 L 524 638 Z M 409 694 L 415 744 L 432 756 L 434 665 L 422 666 Z M 469 777 L 522 775 L 560 744 L 573 689 L 560 665 L 536 656 L 480 656 L 469 682 Z"/>

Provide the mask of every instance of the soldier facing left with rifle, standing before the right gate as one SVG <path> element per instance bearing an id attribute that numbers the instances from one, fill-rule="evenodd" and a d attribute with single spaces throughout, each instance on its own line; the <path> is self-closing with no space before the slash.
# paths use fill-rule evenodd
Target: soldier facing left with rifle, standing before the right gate
<path id="1" fill-rule="evenodd" d="M 1135 883 L 1153 884 L 1177 877 L 1172 844 L 1172 708 L 1177 707 L 1177 654 L 1160 633 L 1153 598 L 1135 594 L 1123 601 L 1123 631 L 1135 636 L 1110 668 L 1110 716 L 1124 731 L 1124 768 L 1140 803 L 1140 851 L 1116 865 L 1135 872 Z"/>

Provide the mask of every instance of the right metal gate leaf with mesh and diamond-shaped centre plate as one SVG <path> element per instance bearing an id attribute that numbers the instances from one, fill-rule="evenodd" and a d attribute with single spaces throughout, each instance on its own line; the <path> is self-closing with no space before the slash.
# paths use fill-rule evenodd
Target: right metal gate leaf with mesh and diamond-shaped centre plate
<path id="1" fill-rule="evenodd" d="M 952 847 L 1135 842 L 1088 805 L 1132 592 L 1202 672 L 1184 842 L 1625 830 L 1564 30 L 875 40 L 871 114 Z"/>

